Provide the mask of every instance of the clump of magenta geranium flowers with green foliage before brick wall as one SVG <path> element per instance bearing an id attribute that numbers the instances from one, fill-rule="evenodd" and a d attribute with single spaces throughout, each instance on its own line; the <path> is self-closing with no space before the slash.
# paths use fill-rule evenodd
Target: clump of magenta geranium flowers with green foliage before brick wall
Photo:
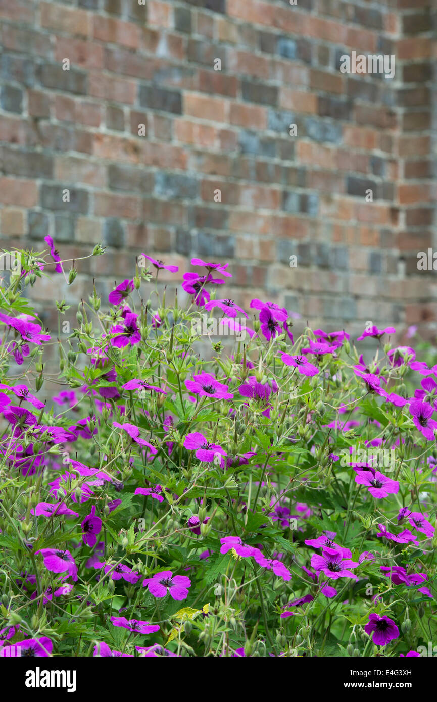
<path id="1" fill-rule="evenodd" d="M 185 306 L 159 279 L 178 266 L 142 253 L 45 329 L 27 286 L 75 277 L 46 244 L 0 287 L 0 656 L 419 656 L 437 365 L 392 326 L 292 333 L 201 258 Z"/>

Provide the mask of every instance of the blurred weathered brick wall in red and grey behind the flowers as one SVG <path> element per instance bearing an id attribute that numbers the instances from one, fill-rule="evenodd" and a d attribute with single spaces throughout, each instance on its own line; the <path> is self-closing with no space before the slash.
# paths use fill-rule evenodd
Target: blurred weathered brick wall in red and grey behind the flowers
<path id="1" fill-rule="evenodd" d="M 433 0 L 0 0 L 0 21 L 3 246 L 108 247 L 41 301 L 106 295 L 144 251 L 173 280 L 229 260 L 236 300 L 311 324 L 434 328 Z M 351 51 L 394 79 L 341 73 Z"/>

